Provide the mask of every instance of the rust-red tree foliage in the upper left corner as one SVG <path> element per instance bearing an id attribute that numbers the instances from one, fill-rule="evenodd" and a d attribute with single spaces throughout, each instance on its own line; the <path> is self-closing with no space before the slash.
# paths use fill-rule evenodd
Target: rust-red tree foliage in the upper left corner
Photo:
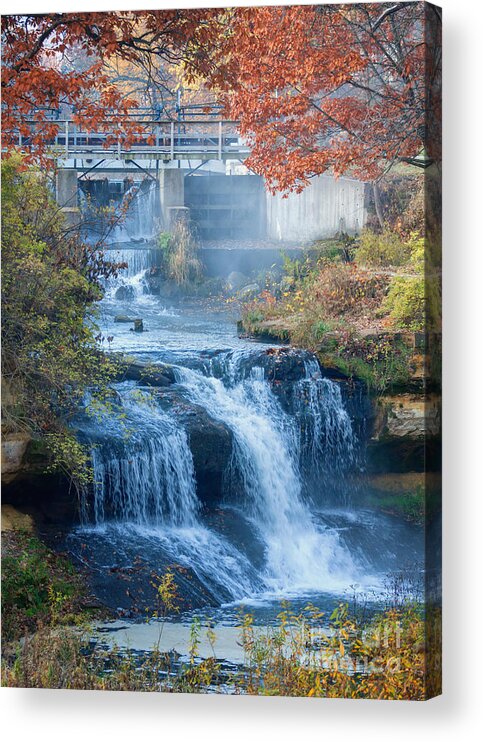
<path id="1" fill-rule="evenodd" d="M 218 33 L 219 11 L 160 10 L 42 14 L 2 17 L 2 127 L 4 145 L 19 134 L 29 139 L 29 154 L 46 153 L 46 141 L 59 124 L 52 110 L 68 106 L 87 131 L 123 135 L 128 145 L 143 127 L 129 121 L 138 106 L 117 86 L 107 65 L 114 60 L 144 70 L 145 85 L 159 60 L 174 64 L 196 56 Z M 87 64 L 79 65 L 83 59 Z M 158 83 L 159 84 L 159 83 Z M 29 119 L 36 121 L 31 135 Z"/>

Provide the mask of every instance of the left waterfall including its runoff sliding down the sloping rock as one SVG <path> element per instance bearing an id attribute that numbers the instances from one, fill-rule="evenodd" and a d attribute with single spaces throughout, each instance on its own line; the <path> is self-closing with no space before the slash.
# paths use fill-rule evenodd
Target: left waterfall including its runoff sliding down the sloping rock
<path id="1" fill-rule="evenodd" d="M 259 590 L 260 579 L 246 556 L 200 522 L 184 429 L 129 383 L 118 385 L 117 394 L 117 405 L 106 406 L 95 422 L 78 428 L 91 446 L 94 475 L 93 501 L 81 507 L 84 529 L 104 533 L 109 528 L 126 543 L 154 543 L 191 569 L 219 603 Z"/>

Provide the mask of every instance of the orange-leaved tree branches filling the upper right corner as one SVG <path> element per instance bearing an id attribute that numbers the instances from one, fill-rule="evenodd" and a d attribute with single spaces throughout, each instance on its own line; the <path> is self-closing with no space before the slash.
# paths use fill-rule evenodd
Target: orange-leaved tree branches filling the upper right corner
<path id="1" fill-rule="evenodd" d="M 212 76 L 272 189 L 440 159 L 441 49 L 425 3 L 236 8 Z M 428 126 L 433 124 L 431 131 Z"/>

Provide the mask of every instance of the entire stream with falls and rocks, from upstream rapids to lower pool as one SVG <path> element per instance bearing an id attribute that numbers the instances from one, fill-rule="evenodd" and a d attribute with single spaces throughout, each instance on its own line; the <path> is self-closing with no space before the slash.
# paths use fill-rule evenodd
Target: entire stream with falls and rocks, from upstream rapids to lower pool
<path id="1" fill-rule="evenodd" d="M 146 293 L 149 245 L 112 252 L 129 267 L 99 305 L 108 347 L 169 364 L 174 383 L 121 381 L 109 404 L 76 421 L 95 484 L 66 547 L 118 611 L 98 627 L 103 641 L 147 649 L 158 640 L 158 622 L 145 619 L 167 569 L 179 612 L 161 649 L 186 654 L 198 616 L 233 662 L 240 611 L 259 626 L 285 600 L 328 613 L 357 600 L 370 612 L 387 600 L 391 574 L 408 568 L 419 579 L 422 528 L 358 506 L 364 393 L 326 377 L 307 351 L 239 338 L 236 313 L 222 303 L 168 305 Z M 145 331 L 119 315 L 142 318 Z"/>

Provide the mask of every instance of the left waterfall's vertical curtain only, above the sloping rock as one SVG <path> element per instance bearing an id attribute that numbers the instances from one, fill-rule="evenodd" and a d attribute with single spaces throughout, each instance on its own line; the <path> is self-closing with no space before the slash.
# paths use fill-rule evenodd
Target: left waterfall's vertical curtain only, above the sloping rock
<path id="1" fill-rule="evenodd" d="M 94 523 L 193 525 L 198 500 L 185 431 L 139 390 L 121 392 L 119 401 L 120 409 L 102 414 L 104 435 L 91 449 Z"/>

